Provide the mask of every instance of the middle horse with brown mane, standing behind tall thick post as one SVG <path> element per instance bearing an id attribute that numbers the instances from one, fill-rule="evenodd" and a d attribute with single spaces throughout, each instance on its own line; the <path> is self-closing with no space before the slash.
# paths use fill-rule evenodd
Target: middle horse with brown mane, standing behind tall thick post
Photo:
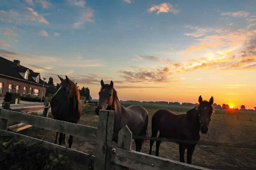
<path id="1" fill-rule="evenodd" d="M 114 134 L 118 134 L 124 126 L 128 126 L 133 135 L 147 135 L 148 128 L 148 111 L 138 105 L 124 107 L 118 100 L 117 92 L 113 87 L 113 81 L 110 84 L 104 84 L 101 80 L 101 89 L 99 92 L 98 106 L 95 109 L 96 115 L 99 110 L 114 110 Z M 117 138 L 113 138 L 117 143 Z M 136 151 L 140 152 L 143 140 L 135 140 Z"/>

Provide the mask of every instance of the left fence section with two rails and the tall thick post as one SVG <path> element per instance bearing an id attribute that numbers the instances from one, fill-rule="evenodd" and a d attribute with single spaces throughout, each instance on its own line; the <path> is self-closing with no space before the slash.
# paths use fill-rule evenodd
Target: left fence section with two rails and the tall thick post
<path id="1" fill-rule="evenodd" d="M 44 109 L 49 109 L 49 107 Z M 44 116 L 39 117 L 37 115 L 16 112 L 15 110 L 10 110 L 10 103 L 3 103 L 3 107 L 0 109 L 0 136 L 9 136 L 33 143 L 40 143 L 41 146 L 51 149 L 55 154 L 65 154 L 71 160 L 85 166 L 90 166 L 94 161 L 95 170 L 110 169 L 115 112 L 112 110 L 100 110 L 98 128 L 47 118 L 46 113 L 44 113 Z M 9 132 L 7 131 L 9 121 L 18 121 L 20 123 L 30 124 L 30 126 L 83 137 L 85 141 L 96 141 L 96 155 L 85 154 L 84 152 L 74 151 L 73 149 L 47 141 Z"/>

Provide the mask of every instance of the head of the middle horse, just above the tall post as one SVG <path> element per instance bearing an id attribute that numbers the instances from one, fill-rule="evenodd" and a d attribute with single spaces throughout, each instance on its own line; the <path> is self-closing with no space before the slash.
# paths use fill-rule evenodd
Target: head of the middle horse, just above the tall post
<path id="1" fill-rule="evenodd" d="M 115 91 L 113 85 L 113 81 L 111 81 L 110 84 L 104 84 L 103 80 L 101 80 L 101 90 L 99 91 L 98 106 L 95 109 L 96 115 L 99 115 L 100 109 L 107 110 L 112 108 L 113 92 Z"/>

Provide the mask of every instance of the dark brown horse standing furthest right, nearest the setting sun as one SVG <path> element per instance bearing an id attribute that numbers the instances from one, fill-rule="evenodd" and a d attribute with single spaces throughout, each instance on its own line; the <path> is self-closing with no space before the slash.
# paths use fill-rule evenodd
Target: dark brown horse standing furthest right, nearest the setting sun
<path id="1" fill-rule="evenodd" d="M 209 101 L 203 101 L 199 97 L 199 104 L 187 114 L 175 115 L 168 109 L 161 109 L 155 112 L 152 117 L 152 135 L 157 137 L 157 132 L 160 131 L 158 138 L 174 138 L 180 140 L 194 140 L 199 141 L 201 131 L 202 134 L 207 134 L 208 126 L 211 121 L 214 109 L 212 107 L 213 97 Z M 177 142 L 179 143 L 179 142 Z M 150 141 L 149 154 L 152 152 L 152 145 L 154 141 Z M 159 155 L 159 147 L 161 141 L 157 141 L 155 155 Z M 179 143 L 180 161 L 185 163 L 184 154 L 187 152 L 187 163 L 192 163 L 192 155 L 196 144 Z"/>

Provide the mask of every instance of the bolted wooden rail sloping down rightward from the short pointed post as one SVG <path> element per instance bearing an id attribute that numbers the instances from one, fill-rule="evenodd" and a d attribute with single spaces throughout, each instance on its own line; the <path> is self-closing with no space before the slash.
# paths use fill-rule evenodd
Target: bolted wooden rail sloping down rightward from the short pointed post
<path id="1" fill-rule="evenodd" d="M 116 148 L 116 155 L 118 155 L 118 157 L 115 159 L 115 163 L 117 165 L 126 166 L 135 170 L 210 170 L 200 166 L 189 165 L 179 161 L 156 157 L 136 151 L 127 151 L 119 148 Z"/>

